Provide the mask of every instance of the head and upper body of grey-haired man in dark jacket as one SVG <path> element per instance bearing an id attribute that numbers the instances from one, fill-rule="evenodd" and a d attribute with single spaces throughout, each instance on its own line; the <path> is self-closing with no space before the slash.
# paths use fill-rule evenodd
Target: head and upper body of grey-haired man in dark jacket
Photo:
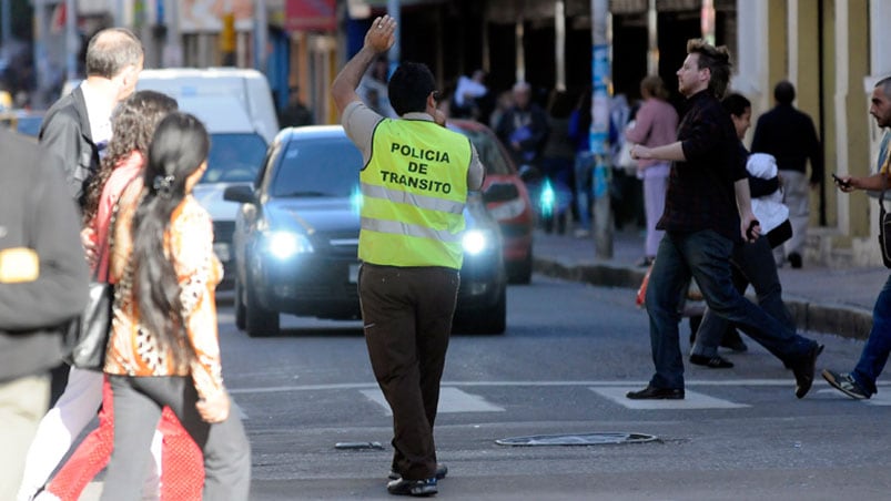
<path id="1" fill-rule="evenodd" d="M 111 139 L 111 112 L 136 88 L 142 42 L 125 28 L 97 33 L 87 45 L 87 80 L 47 111 L 40 142 L 64 159 L 71 196 L 83 207 L 87 183 Z"/>

